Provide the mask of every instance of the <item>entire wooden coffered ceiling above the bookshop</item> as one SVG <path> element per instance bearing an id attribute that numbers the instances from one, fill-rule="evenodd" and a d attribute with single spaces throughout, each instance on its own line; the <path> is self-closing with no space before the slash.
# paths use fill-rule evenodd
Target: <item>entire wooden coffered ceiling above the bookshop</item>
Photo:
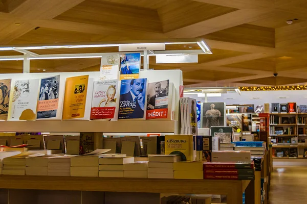
<path id="1" fill-rule="evenodd" d="M 155 56 L 149 61 L 152 69 L 182 69 L 185 85 L 193 87 L 305 84 L 306 33 L 304 0 L 0 0 L 0 45 L 204 39 L 213 54 L 200 55 L 199 63 L 156 64 Z M 195 48 L 166 48 L 190 47 Z M 0 51 L 8 55 L 20 54 Z M 33 60 L 30 71 L 98 71 L 99 64 L 99 59 Z M 0 73 L 21 72 L 22 65 L 0 61 Z"/>

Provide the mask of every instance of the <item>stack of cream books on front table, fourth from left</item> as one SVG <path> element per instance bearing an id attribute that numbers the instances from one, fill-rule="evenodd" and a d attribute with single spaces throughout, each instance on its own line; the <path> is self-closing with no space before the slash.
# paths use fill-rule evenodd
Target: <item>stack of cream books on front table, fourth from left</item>
<path id="1" fill-rule="evenodd" d="M 71 176 L 98 177 L 99 155 L 71 157 Z"/>

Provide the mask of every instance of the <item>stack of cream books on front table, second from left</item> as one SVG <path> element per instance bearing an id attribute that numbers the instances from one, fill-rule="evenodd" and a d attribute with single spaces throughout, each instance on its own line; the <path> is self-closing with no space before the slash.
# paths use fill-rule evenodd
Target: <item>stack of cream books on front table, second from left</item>
<path id="1" fill-rule="evenodd" d="M 48 175 L 48 156 L 27 157 L 26 175 Z"/>

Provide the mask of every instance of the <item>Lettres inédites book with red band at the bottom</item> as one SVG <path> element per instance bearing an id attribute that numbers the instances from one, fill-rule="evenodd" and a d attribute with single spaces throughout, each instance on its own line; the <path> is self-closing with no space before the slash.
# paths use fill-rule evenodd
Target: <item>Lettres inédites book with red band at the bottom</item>
<path id="1" fill-rule="evenodd" d="M 117 84 L 117 80 L 94 82 L 91 120 L 114 118 L 117 100 Z"/>

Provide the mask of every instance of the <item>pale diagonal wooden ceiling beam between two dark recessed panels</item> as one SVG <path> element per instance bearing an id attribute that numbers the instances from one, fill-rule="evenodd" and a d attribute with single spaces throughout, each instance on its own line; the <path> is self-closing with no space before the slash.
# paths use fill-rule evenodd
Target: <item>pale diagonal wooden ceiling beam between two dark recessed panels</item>
<path id="1" fill-rule="evenodd" d="M 171 38 L 199 37 L 271 16 L 272 9 L 241 9 L 167 32 Z"/>

